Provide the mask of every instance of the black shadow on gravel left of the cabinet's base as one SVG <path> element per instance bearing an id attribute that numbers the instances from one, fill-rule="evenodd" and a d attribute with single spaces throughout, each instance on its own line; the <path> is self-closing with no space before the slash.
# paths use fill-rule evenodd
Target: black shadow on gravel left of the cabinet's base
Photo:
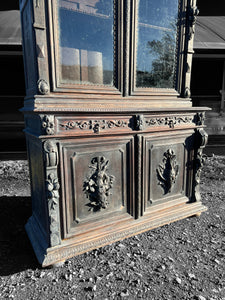
<path id="1" fill-rule="evenodd" d="M 0 276 L 39 268 L 25 231 L 30 197 L 0 197 Z"/>

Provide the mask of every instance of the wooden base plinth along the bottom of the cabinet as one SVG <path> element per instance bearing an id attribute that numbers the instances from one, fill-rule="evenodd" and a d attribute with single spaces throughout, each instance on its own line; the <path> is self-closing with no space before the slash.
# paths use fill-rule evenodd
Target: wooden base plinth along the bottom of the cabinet
<path id="1" fill-rule="evenodd" d="M 46 247 L 45 242 L 43 242 L 43 234 L 38 230 L 37 223 L 33 217 L 26 224 L 26 231 L 42 267 L 54 267 L 62 265 L 65 260 L 73 256 L 190 216 L 200 216 L 206 210 L 207 207 L 202 205 L 201 202 L 180 204 L 159 211 L 154 210 L 152 213 L 146 213 L 140 219 L 131 218 L 122 225 L 118 222 L 118 224 L 113 226 L 113 229 L 108 229 L 107 234 L 99 234 L 98 230 L 96 230 L 96 234 L 92 232 L 90 236 L 88 236 L 88 233 L 85 233 L 85 239 L 83 236 L 74 236 L 71 239 L 62 240 L 60 245 L 50 248 Z"/>

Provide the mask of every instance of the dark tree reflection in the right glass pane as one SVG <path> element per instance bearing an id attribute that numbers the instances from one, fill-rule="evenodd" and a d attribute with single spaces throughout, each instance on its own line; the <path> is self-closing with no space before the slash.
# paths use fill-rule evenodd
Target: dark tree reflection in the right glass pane
<path id="1" fill-rule="evenodd" d="M 150 72 L 137 70 L 137 87 L 174 87 L 175 32 L 176 27 L 173 25 L 173 30 L 166 31 L 161 40 L 147 42 L 149 53 L 155 59 Z"/>

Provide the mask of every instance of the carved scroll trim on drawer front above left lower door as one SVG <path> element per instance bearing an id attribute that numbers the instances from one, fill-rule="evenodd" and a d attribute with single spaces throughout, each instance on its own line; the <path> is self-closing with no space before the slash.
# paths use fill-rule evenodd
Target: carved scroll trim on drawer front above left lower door
<path id="1" fill-rule="evenodd" d="M 59 124 L 65 130 L 81 129 L 92 130 L 100 133 L 101 130 L 128 127 L 128 122 L 123 120 L 87 120 L 87 121 L 66 121 Z"/>

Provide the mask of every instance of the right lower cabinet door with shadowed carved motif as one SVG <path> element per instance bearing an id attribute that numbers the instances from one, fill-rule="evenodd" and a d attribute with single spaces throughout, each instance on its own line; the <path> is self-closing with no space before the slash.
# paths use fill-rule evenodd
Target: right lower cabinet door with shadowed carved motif
<path id="1" fill-rule="evenodd" d="M 187 202 L 191 195 L 193 131 L 143 135 L 143 210 Z"/>

